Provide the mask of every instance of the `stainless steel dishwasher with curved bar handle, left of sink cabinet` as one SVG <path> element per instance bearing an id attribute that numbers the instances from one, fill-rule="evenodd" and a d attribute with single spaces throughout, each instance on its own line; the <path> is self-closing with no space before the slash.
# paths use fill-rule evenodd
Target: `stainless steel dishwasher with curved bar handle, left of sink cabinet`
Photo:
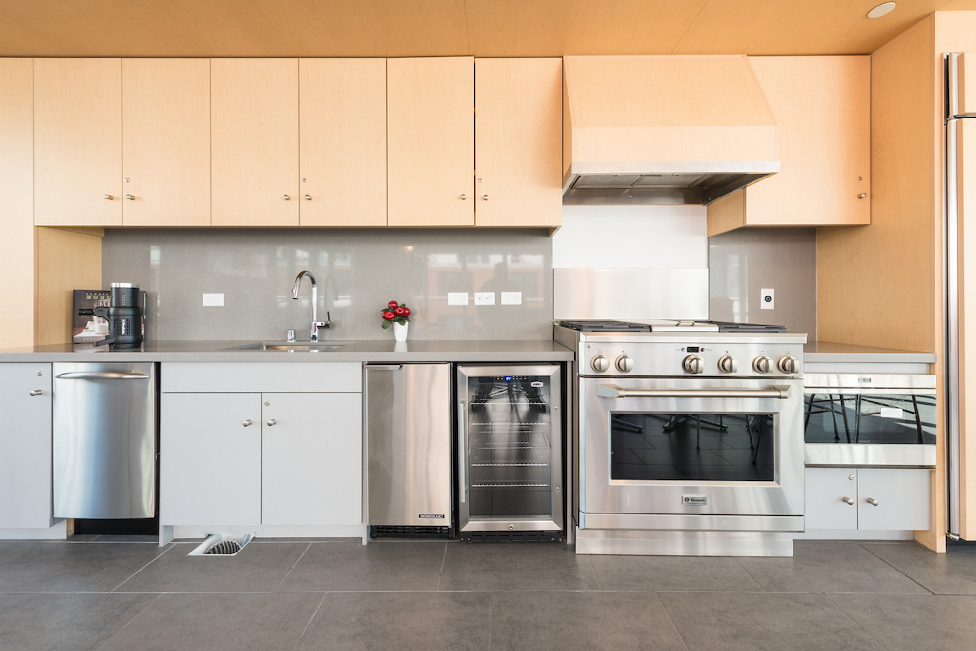
<path id="1" fill-rule="evenodd" d="M 55 517 L 154 517 L 156 364 L 53 371 Z"/>

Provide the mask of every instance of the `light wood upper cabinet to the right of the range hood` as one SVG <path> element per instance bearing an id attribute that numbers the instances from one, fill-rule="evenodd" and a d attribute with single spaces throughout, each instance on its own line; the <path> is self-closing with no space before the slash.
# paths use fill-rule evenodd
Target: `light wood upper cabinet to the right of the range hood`
<path id="1" fill-rule="evenodd" d="M 708 207 L 708 233 L 871 223 L 871 57 L 750 57 L 780 172 Z"/>

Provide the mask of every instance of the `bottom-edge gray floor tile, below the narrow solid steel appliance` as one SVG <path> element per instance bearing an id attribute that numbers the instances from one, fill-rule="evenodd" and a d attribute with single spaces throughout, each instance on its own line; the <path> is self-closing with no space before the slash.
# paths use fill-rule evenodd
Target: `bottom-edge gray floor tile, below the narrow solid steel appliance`
<path id="1" fill-rule="evenodd" d="M 484 593 L 326 594 L 297 649 L 488 649 Z"/>

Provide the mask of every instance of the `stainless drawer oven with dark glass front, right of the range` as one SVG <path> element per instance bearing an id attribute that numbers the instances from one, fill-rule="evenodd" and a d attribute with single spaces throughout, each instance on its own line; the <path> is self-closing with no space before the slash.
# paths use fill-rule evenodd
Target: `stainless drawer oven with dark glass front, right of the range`
<path id="1" fill-rule="evenodd" d="M 808 466 L 935 467 L 935 375 L 808 373 Z"/>

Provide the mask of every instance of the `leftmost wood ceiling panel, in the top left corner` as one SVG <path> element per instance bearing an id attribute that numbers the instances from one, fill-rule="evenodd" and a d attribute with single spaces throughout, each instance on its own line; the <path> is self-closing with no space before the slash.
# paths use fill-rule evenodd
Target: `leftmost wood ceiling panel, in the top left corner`
<path id="1" fill-rule="evenodd" d="M 0 56 L 266 54 L 221 0 L 0 0 Z"/>

